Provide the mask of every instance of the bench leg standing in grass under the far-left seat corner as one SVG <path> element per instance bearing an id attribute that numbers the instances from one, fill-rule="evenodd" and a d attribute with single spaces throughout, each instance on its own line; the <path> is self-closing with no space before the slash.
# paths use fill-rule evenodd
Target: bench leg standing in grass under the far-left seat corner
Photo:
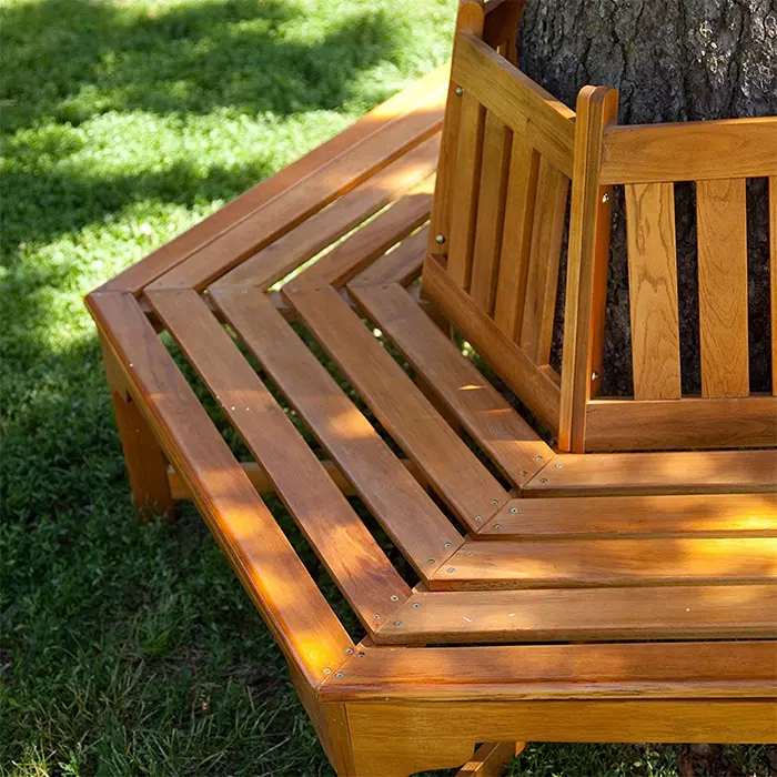
<path id="1" fill-rule="evenodd" d="M 174 519 L 176 513 L 168 478 L 168 460 L 130 395 L 115 356 L 104 344 L 102 353 L 134 505 L 142 521 L 162 514 Z"/>

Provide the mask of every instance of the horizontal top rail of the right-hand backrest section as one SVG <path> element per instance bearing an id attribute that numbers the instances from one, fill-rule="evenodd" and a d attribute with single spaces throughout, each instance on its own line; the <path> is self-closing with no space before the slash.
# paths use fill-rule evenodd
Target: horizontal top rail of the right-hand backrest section
<path id="1" fill-rule="evenodd" d="M 777 119 L 613 127 L 602 183 L 662 183 L 777 175 Z"/>

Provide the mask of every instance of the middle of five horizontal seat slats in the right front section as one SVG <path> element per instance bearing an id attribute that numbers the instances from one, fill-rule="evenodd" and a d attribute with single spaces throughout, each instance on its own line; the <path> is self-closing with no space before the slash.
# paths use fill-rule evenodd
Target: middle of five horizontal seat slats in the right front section
<path id="1" fill-rule="evenodd" d="M 777 537 L 467 542 L 445 567 L 433 591 L 777 585 Z"/>

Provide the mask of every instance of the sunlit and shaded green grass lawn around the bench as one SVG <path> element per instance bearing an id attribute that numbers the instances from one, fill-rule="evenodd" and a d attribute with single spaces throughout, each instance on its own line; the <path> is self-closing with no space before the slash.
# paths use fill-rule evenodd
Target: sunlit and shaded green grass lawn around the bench
<path id="1" fill-rule="evenodd" d="M 0 2 L 0 774 L 332 775 L 193 511 L 138 523 L 81 297 L 442 61 L 454 4 Z M 535 746 L 512 774 L 677 753 Z"/>

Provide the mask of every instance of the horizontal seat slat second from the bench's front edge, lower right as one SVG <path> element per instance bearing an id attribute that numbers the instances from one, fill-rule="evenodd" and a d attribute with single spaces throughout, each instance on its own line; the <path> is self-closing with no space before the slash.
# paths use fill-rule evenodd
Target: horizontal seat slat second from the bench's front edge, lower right
<path id="1" fill-rule="evenodd" d="M 777 586 L 435 591 L 414 594 L 375 635 L 382 645 L 747 638 L 777 638 Z"/>

